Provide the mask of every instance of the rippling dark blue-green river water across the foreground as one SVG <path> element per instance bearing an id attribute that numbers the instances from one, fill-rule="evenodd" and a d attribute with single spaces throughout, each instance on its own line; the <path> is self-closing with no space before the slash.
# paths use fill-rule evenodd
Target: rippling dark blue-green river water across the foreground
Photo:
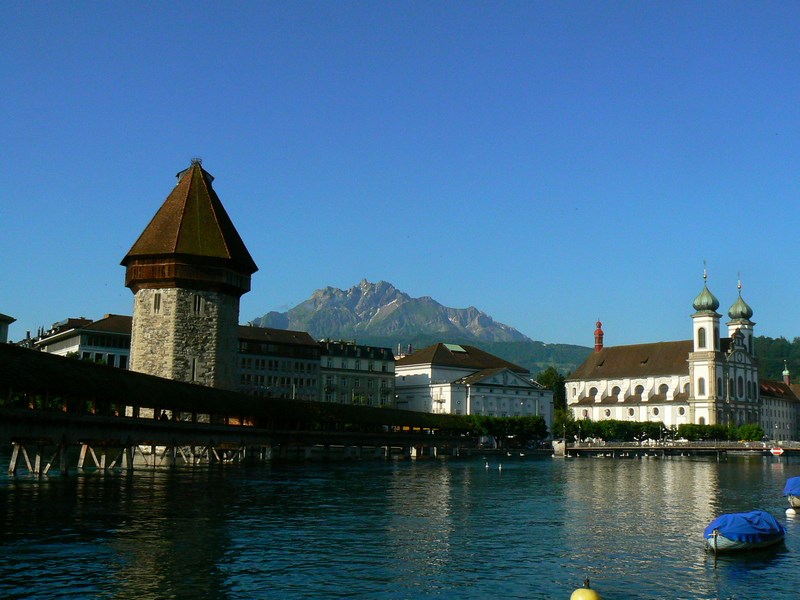
<path id="1" fill-rule="evenodd" d="M 0 597 L 566 599 L 585 577 L 604 600 L 798 597 L 796 459 L 487 460 L 3 474 Z M 753 508 L 785 545 L 704 552 Z"/>

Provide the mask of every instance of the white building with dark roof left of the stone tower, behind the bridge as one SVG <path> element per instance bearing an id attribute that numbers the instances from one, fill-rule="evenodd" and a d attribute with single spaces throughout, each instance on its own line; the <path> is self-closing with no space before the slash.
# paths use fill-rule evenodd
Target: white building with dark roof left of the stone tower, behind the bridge
<path id="1" fill-rule="evenodd" d="M 84 317 L 64 319 L 37 336 L 33 347 L 49 354 L 73 356 L 127 369 L 131 317 L 107 314 L 97 321 Z"/>

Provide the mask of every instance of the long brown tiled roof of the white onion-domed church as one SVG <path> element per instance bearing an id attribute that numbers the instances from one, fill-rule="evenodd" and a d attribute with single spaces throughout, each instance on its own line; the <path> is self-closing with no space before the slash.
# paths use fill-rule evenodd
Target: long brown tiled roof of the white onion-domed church
<path id="1" fill-rule="evenodd" d="M 652 377 L 688 373 L 692 340 L 608 346 L 593 352 L 569 376 L 576 379 Z"/>

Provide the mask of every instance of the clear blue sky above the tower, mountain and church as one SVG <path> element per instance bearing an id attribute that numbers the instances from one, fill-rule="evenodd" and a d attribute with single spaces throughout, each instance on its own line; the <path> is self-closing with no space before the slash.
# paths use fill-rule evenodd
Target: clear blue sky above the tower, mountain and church
<path id="1" fill-rule="evenodd" d="M 241 321 L 386 280 L 545 342 L 800 335 L 800 3 L 3 2 L 10 338 L 131 314 L 194 156 L 260 270 Z"/>

